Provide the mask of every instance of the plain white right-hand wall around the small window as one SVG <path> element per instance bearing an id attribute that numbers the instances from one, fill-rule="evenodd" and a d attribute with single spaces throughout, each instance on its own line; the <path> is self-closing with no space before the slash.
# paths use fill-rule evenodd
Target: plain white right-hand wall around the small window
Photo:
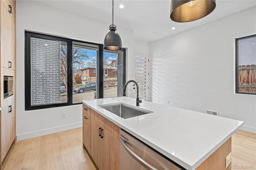
<path id="1" fill-rule="evenodd" d="M 255 32 L 253 7 L 150 43 L 152 101 L 219 111 L 256 133 L 256 95 L 234 94 L 234 39 Z"/>

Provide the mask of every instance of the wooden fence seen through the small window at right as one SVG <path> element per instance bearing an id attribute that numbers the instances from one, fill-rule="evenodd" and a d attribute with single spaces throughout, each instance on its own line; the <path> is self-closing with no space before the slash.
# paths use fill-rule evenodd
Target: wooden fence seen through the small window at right
<path id="1" fill-rule="evenodd" d="M 256 65 L 239 65 L 238 92 L 256 93 Z"/>

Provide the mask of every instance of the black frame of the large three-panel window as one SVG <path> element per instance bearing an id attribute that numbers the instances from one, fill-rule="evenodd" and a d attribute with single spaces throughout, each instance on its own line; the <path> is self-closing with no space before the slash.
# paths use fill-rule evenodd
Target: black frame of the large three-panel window
<path id="1" fill-rule="evenodd" d="M 46 105 L 31 105 L 31 38 L 41 38 L 45 40 L 53 40 L 53 41 L 61 41 L 67 43 L 67 102 L 66 103 L 54 103 L 54 104 L 46 104 Z M 72 89 L 72 46 L 73 42 L 87 43 L 91 45 L 98 45 L 99 51 L 97 56 L 97 67 L 96 67 L 96 75 L 97 75 L 97 99 L 103 98 L 103 44 L 100 43 L 92 43 L 81 40 L 74 40 L 70 38 L 63 38 L 58 36 L 52 36 L 48 34 L 41 34 L 36 32 L 25 31 L 25 110 L 35 110 L 35 109 L 46 109 L 52 107 L 62 107 L 69 105 L 79 105 L 80 103 L 73 103 L 73 89 Z M 122 49 L 123 51 L 123 86 L 125 83 L 126 77 L 126 49 Z M 70 88 L 71 87 L 71 88 Z"/>

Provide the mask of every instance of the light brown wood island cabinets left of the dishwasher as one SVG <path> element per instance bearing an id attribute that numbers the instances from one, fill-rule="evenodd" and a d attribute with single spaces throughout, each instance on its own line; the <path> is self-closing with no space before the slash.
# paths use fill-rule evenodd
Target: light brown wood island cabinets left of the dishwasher
<path id="1" fill-rule="evenodd" d="M 83 105 L 83 119 L 84 108 L 89 107 Z M 90 150 L 89 153 L 99 170 L 119 170 L 120 127 L 90 109 L 90 148 L 86 147 L 88 140 L 84 140 L 86 136 L 89 136 L 86 132 L 84 133 L 84 131 L 88 132 L 88 129 L 83 123 L 84 147 L 88 152 Z"/>

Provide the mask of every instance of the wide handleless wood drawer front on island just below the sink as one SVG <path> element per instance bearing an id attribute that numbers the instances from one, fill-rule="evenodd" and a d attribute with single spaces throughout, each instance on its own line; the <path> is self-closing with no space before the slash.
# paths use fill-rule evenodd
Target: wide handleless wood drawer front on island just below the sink
<path id="1" fill-rule="evenodd" d="M 119 140 L 120 127 L 118 127 L 117 125 L 115 125 L 114 123 L 112 123 L 111 121 L 104 118 L 102 115 L 98 114 L 93 110 L 91 110 L 91 117 L 103 128 L 105 128 L 112 136 Z"/>

